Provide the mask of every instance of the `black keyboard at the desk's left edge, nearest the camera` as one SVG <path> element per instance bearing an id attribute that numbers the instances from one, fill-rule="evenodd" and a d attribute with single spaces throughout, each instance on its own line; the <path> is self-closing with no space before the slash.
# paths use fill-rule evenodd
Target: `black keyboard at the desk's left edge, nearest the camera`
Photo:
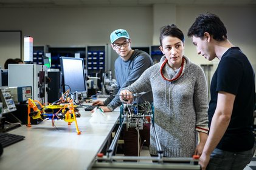
<path id="1" fill-rule="evenodd" d="M 12 145 L 13 143 L 19 142 L 23 140 L 25 136 L 21 136 L 18 134 L 10 134 L 10 133 L 2 133 L 0 132 L 0 143 L 2 147 L 6 147 Z"/>

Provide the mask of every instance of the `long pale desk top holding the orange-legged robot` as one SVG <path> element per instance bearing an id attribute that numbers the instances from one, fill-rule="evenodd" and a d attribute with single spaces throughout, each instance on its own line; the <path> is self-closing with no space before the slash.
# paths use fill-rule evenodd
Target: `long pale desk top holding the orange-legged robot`
<path id="1" fill-rule="evenodd" d="M 106 123 L 90 123 L 91 113 L 80 108 L 77 118 L 81 135 L 77 135 L 75 122 L 71 126 L 64 120 L 51 120 L 27 128 L 22 125 L 9 131 L 26 136 L 21 142 L 4 148 L 0 169 L 90 169 L 95 155 L 103 148 L 119 118 L 119 108 L 106 113 Z"/>

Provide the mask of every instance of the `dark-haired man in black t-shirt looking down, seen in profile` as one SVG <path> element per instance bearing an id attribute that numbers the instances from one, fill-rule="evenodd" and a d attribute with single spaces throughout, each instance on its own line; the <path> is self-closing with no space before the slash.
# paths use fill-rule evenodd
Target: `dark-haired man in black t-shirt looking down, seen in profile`
<path id="1" fill-rule="evenodd" d="M 199 164 L 202 169 L 242 170 L 255 151 L 254 70 L 240 48 L 227 39 L 226 27 L 218 16 L 199 15 L 188 36 L 198 54 L 220 60 L 210 85 L 210 131 Z"/>

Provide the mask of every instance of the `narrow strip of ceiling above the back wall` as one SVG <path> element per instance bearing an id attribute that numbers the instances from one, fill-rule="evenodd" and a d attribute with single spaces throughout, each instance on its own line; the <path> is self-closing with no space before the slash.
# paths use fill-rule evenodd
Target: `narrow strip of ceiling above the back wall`
<path id="1" fill-rule="evenodd" d="M 87 6 L 137 6 L 153 4 L 176 5 L 255 5 L 256 0 L 0 0 L 0 7 L 87 7 Z"/>

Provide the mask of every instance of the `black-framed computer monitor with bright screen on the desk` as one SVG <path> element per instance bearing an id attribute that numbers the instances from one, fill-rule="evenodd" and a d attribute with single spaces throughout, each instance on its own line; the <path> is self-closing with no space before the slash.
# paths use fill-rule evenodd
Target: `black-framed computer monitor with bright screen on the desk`
<path id="1" fill-rule="evenodd" d="M 63 92 L 80 92 L 86 94 L 85 66 L 82 58 L 60 57 L 60 67 L 63 74 Z M 86 96 L 84 96 L 86 97 Z"/>

